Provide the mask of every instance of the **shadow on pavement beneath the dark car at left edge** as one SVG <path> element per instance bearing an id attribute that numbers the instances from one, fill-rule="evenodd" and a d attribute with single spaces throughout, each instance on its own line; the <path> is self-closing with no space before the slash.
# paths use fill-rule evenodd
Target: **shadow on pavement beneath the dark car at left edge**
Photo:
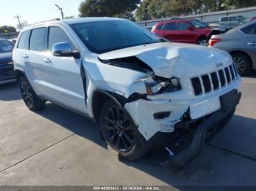
<path id="1" fill-rule="evenodd" d="M 15 101 L 21 99 L 16 82 L 0 85 L 0 101 Z"/>

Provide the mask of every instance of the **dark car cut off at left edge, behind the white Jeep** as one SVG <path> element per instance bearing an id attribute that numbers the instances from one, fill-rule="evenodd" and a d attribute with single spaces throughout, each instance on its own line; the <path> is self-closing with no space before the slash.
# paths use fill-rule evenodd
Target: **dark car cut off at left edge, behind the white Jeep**
<path id="1" fill-rule="evenodd" d="M 6 39 L 0 39 L 0 84 L 15 81 L 12 62 L 13 44 Z"/>

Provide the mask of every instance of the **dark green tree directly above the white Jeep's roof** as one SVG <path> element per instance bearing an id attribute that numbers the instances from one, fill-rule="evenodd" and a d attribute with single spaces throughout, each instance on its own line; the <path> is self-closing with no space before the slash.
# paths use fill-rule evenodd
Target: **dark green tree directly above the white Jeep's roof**
<path id="1" fill-rule="evenodd" d="M 86 0 L 80 4 L 80 17 L 117 17 L 133 12 L 140 0 Z"/>

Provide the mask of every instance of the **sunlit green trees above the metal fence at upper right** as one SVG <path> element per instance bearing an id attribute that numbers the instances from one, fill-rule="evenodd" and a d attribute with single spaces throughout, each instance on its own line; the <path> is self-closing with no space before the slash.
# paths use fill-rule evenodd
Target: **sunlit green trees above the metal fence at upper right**
<path id="1" fill-rule="evenodd" d="M 256 0 L 143 0 L 135 12 L 135 19 L 177 17 L 249 6 L 256 6 Z"/>

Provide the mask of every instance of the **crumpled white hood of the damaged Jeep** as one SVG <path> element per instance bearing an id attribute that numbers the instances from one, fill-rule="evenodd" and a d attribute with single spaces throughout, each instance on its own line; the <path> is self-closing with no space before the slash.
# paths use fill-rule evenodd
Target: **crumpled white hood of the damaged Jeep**
<path id="1" fill-rule="evenodd" d="M 206 74 L 232 63 L 227 52 L 194 44 L 162 42 L 129 47 L 99 55 L 102 60 L 136 56 L 160 77 Z"/>

